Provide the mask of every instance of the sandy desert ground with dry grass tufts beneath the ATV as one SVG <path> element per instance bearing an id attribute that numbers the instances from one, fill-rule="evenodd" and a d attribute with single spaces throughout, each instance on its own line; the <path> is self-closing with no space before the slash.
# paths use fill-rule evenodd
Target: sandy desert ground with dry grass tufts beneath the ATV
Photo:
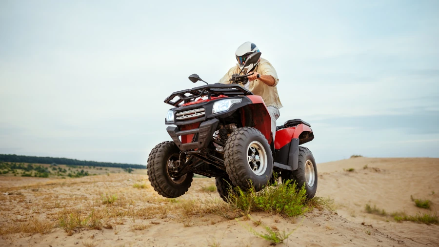
<path id="1" fill-rule="evenodd" d="M 333 200 L 332 210 L 298 217 L 252 212 L 235 218 L 209 178 L 194 178 L 185 195 L 166 199 L 146 170 L 66 179 L 1 176 L 0 246 L 274 245 L 250 230 L 264 232 L 264 226 L 292 232 L 277 246 L 439 246 L 438 225 L 392 216 L 437 215 L 439 159 L 359 157 L 317 166 L 317 196 Z M 415 206 L 415 199 L 429 200 L 430 208 Z"/>

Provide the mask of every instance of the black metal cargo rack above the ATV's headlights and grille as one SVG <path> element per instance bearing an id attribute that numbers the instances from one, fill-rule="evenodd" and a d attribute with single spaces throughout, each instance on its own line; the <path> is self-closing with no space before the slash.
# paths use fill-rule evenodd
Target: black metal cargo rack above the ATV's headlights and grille
<path id="1" fill-rule="evenodd" d="M 177 107 L 181 103 L 185 104 L 189 102 L 194 102 L 195 99 L 206 95 L 210 99 L 211 96 L 224 95 L 228 97 L 233 97 L 253 95 L 253 93 L 237 84 L 215 83 L 174 92 L 164 100 L 164 103 Z"/>

